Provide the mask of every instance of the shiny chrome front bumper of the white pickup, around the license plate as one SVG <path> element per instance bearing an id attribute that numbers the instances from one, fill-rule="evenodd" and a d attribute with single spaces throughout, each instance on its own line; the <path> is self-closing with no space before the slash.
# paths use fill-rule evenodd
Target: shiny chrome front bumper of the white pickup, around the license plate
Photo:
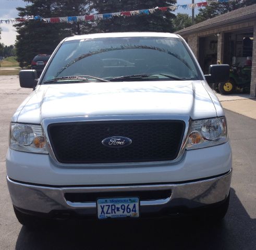
<path id="1" fill-rule="evenodd" d="M 7 176 L 8 188 L 13 205 L 17 208 L 43 212 L 53 210 L 70 210 L 78 215 L 96 216 L 96 203 L 69 202 L 65 193 L 99 193 L 122 191 L 156 191 L 170 190 L 171 195 L 165 199 L 140 201 L 141 214 L 155 213 L 176 207 L 200 208 L 223 201 L 229 194 L 231 170 L 222 176 L 200 181 L 178 184 L 141 184 L 125 186 L 79 186 L 79 187 L 51 187 L 19 183 Z"/>

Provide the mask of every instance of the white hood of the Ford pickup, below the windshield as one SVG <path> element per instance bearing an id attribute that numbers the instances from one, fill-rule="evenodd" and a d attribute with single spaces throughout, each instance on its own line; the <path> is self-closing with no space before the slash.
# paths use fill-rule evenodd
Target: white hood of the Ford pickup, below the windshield
<path id="1" fill-rule="evenodd" d="M 39 124 L 44 118 L 151 114 L 216 117 L 210 94 L 202 81 L 39 85 L 13 121 Z"/>

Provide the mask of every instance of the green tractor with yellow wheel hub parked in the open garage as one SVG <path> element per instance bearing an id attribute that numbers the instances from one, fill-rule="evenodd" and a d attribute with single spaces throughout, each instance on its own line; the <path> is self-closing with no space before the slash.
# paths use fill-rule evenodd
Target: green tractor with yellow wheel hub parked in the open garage
<path id="1" fill-rule="evenodd" d="M 230 67 L 229 81 L 226 83 L 215 83 L 212 88 L 223 95 L 235 91 L 248 92 L 251 84 L 251 66 L 238 67 L 239 62 Z"/>

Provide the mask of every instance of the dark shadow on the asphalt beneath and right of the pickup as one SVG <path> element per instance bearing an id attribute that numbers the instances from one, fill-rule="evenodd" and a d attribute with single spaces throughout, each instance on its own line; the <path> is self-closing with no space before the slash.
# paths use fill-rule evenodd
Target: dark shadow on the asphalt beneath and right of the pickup
<path id="1" fill-rule="evenodd" d="M 87 222 L 81 225 L 30 231 L 22 227 L 20 249 L 255 249 L 255 219 L 251 219 L 235 190 L 229 210 L 218 224 L 196 220 L 137 220 Z"/>

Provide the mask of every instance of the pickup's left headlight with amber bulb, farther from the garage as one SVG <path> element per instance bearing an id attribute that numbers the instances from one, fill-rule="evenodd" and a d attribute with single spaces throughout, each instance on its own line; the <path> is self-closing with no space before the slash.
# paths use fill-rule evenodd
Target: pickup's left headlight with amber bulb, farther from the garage
<path id="1" fill-rule="evenodd" d="M 31 153 L 48 154 L 46 141 L 40 125 L 10 124 L 10 145 L 11 149 Z"/>

